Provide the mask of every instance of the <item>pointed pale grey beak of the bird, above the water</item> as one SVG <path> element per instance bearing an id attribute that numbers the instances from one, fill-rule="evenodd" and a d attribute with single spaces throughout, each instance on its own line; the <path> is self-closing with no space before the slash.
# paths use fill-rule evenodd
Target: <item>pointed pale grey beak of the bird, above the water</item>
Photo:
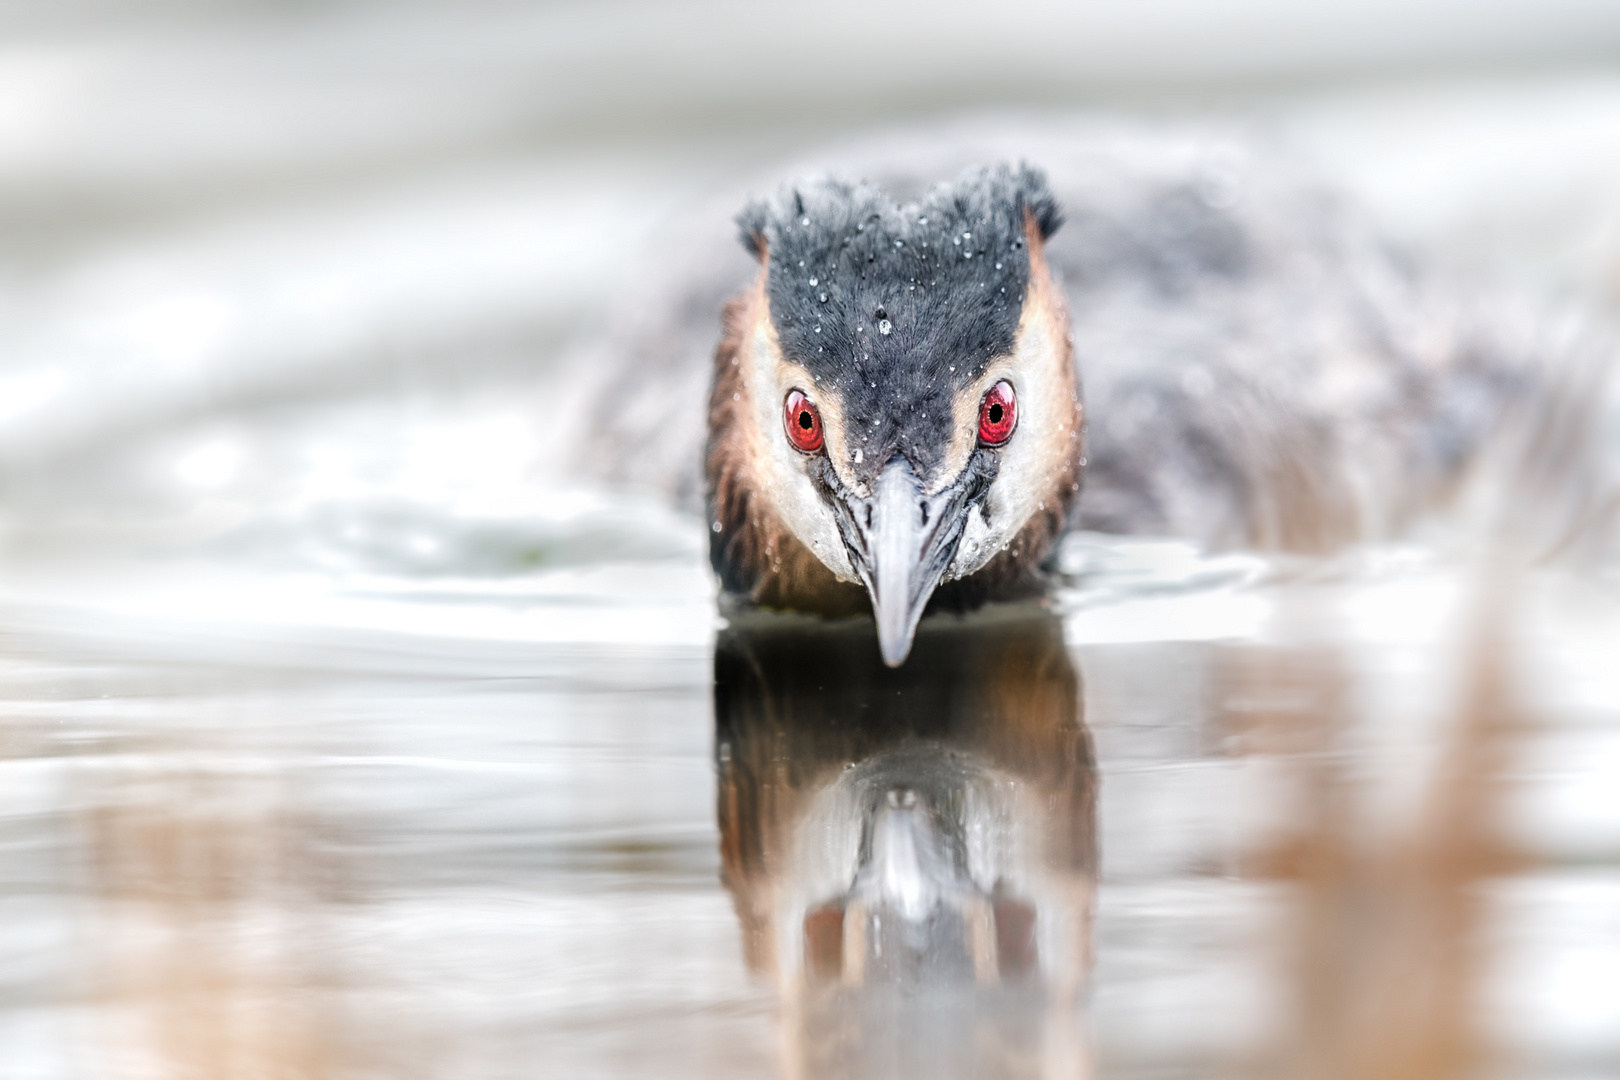
<path id="1" fill-rule="evenodd" d="M 846 499 L 839 531 L 850 562 L 872 594 L 883 662 L 899 667 L 910 653 L 917 620 L 956 557 L 967 525 L 967 487 L 951 484 L 925 495 L 906 458 L 878 476 L 870 499 Z"/>

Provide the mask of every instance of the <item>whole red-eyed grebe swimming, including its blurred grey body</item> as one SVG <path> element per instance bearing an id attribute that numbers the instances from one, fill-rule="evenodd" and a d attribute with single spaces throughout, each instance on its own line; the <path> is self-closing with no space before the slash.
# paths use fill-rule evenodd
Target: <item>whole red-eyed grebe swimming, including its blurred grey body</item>
<path id="1" fill-rule="evenodd" d="M 1516 400 L 1555 415 L 1536 402 L 1554 350 L 1534 317 L 1447 290 L 1251 146 L 936 142 L 846 160 L 878 183 L 750 202 L 760 269 L 708 371 L 708 319 L 740 282 L 697 257 L 608 366 L 604 423 L 627 424 L 630 453 L 598 465 L 688 505 L 710 384 L 711 559 L 732 596 L 870 604 L 897 664 L 930 601 L 1037 591 L 1072 525 L 1291 551 L 1375 539 L 1453 494 Z M 1051 180 L 1000 165 L 923 186 L 1009 149 Z M 1542 434 L 1580 440 L 1571 419 Z"/>

